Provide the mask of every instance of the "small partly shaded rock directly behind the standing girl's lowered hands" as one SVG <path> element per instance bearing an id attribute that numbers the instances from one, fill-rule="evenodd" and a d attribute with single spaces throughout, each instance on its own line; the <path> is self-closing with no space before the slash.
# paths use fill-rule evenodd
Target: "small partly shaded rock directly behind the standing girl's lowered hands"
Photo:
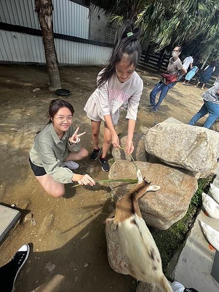
<path id="1" fill-rule="evenodd" d="M 119 137 L 119 145 L 122 148 L 126 148 L 126 142 L 127 142 L 127 133 L 120 133 L 118 135 Z M 145 136 L 142 133 L 134 133 L 133 135 L 133 145 L 134 145 L 134 151 L 131 154 L 134 160 L 137 161 L 146 161 L 146 151 L 145 151 Z M 128 160 L 131 161 L 131 157 L 125 153 L 123 149 L 119 148 L 112 148 L 112 156 L 114 160 Z"/>

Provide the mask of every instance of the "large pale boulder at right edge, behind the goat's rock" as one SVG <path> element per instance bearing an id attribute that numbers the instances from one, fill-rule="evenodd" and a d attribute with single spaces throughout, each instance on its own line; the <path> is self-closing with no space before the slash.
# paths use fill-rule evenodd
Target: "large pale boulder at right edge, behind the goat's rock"
<path id="1" fill-rule="evenodd" d="M 195 172 L 217 167 L 219 133 L 215 131 L 163 122 L 150 128 L 145 137 L 146 152 L 166 164 Z"/>

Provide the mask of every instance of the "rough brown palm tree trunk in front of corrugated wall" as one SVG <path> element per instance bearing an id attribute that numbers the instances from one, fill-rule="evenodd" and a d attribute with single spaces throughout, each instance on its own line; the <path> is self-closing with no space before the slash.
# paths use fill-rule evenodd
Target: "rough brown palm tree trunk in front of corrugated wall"
<path id="1" fill-rule="evenodd" d="M 53 2 L 52 0 L 35 0 L 35 11 L 42 31 L 50 91 L 61 88 L 58 63 L 53 35 Z"/>

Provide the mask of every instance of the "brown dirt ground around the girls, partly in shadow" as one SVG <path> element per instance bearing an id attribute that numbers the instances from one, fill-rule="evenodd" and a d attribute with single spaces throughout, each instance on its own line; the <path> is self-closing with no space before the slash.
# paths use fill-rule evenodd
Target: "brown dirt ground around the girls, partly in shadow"
<path id="1" fill-rule="evenodd" d="M 66 99 L 75 110 L 73 124 L 87 132 L 82 145 L 89 151 L 91 127 L 83 108 L 100 70 L 67 67 L 60 72 L 62 87 L 71 90 Z M 187 123 L 201 108 L 202 91 L 179 83 L 169 91 L 159 111 L 150 113 L 146 108 L 149 92 L 159 75 L 138 73 L 144 80 L 144 91 L 137 131 L 142 125 L 152 127 L 154 122 L 171 116 Z M 20 223 L 0 247 L 0 266 L 22 244 L 31 243 L 30 256 L 16 281 L 16 292 L 131 292 L 131 277 L 115 273 L 107 259 L 104 222 L 113 212 L 107 184 L 73 189 L 68 184 L 65 201 L 49 197 L 31 171 L 29 150 L 36 132 L 47 123 L 50 101 L 57 97 L 47 90 L 47 84 L 44 67 L 0 66 L 0 203 L 15 203 L 22 213 Z M 33 92 L 35 88 L 41 90 Z M 127 130 L 125 116 L 122 111 L 118 133 Z M 108 177 L 98 162 L 89 159 L 80 163 L 78 173 L 89 173 L 95 180 Z"/>

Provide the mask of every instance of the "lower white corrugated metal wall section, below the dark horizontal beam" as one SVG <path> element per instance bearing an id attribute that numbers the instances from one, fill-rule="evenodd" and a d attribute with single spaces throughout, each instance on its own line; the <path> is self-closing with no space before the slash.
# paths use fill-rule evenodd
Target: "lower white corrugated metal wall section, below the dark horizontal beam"
<path id="1" fill-rule="evenodd" d="M 111 48 L 55 38 L 60 64 L 105 64 Z M 42 38 L 0 30 L 0 60 L 45 63 Z"/>

